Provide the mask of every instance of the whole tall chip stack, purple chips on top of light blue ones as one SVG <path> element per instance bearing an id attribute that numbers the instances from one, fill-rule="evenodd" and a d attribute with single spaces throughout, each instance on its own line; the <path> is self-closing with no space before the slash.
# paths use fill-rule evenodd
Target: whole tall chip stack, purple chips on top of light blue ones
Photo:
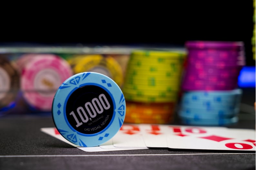
<path id="1" fill-rule="evenodd" d="M 178 116 L 186 125 L 230 125 L 238 121 L 245 65 L 242 42 L 188 41 Z"/>

